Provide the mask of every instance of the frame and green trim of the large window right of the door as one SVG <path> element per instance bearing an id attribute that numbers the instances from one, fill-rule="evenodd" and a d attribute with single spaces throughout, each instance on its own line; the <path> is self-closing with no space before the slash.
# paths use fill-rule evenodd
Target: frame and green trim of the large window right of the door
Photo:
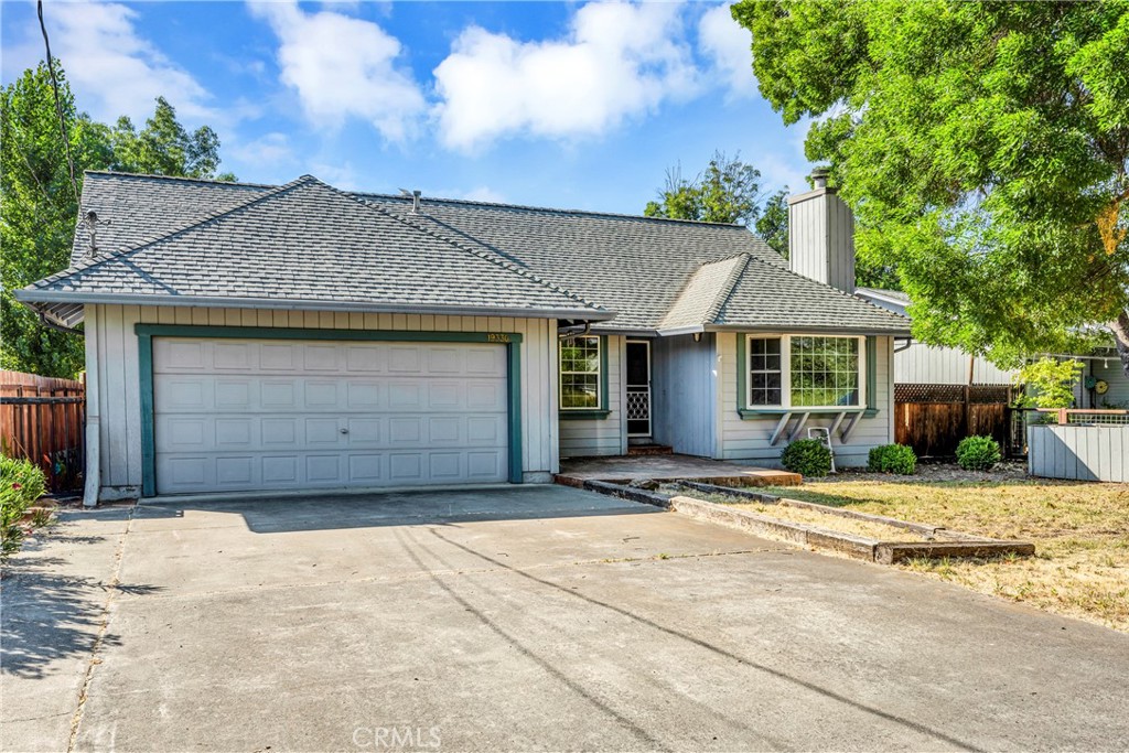
<path id="1" fill-rule="evenodd" d="M 835 338 L 858 342 L 858 404 L 856 405 L 793 405 L 791 404 L 791 341 L 794 338 Z M 760 405 L 752 402 L 752 368 L 750 367 L 751 342 L 753 340 L 780 340 L 780 404 Z M 758 413 L 840 413 L 863 412 L 867 417 L 877 413 L 874 405 L 873 379 L 875 370 L 876 338 L 831 333 L 743 333 L 738 335 L 738 399 L 742 418 L 758 418 Z"/>

